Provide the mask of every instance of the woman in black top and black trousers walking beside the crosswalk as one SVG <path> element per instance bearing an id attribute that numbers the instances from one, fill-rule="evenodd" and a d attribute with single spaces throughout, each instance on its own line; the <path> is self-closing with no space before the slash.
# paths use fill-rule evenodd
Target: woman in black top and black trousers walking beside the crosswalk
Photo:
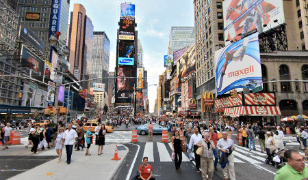
<path id="1" fill-rule="evenodd" d="M 172 137 L 172 152 L 175 153 L 175 170 L 179 172 L 181 170 L 181 162 L 182 162 L 182 150 L 181 144 L 182 140 L 179 136 L 179 131 L 175 131 L 175 136 Z"/>

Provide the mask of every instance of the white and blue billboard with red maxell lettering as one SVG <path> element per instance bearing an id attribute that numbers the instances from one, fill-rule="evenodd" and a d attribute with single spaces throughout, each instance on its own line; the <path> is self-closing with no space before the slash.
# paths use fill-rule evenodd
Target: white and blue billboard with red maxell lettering
<path id="1" fill-rule="evenodd" d="M 216 94 L 232 89 L 242 91 L 245 85 L 253 89 L 262 82 L 258 33 L 216 50 Z"/>

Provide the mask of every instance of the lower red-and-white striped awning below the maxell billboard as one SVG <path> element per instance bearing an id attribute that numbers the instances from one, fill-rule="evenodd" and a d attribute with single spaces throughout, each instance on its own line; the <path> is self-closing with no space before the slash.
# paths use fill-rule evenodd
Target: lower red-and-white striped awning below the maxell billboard
<path id="1" fill-rule="evenodd" d="M 226 116 L 279 116 L 281 115 L 278 106 L 239 106 L 226 108 L 224 110 Z"/>

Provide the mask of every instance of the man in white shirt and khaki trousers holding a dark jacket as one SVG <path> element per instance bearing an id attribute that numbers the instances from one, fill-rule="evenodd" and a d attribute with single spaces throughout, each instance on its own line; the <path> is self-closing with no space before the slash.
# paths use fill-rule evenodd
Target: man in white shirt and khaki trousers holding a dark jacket
<path id="1" fill-rule="evenodd" d="M 234 151 L 234 143 L 233 140 L 228 138 L 227 132 L 222 132 L 222 138 L 217 142 L 217 149 L 218 151 L 229 154 L 227 156 L 227 160 L 229 161 L 229 163 L 224 167 L 223 170 L 224 179 L 227 180 L 228 177 L 230 177 L 231 180 L 235 180 L 234 155 L 232 153 L 232 151 Z M 222 158 L 222 155 L 220 156 L 220 158 Z"/>

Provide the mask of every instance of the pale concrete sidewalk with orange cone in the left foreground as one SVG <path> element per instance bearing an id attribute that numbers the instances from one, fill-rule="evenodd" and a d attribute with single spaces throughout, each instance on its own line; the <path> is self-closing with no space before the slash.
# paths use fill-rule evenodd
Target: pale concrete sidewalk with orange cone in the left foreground
<path id="1" fill-rule="evenodd" d="M 123 145 L 118 144 L 119 146 Z M 96 145 L 91 145 L 89 149 L 92 155 L 85 155 L 86 148 L 84 151 L 75 151 L 73 149 L 72 161 L 69 165 L 66 164 L 66 151 L 64 148 L 60 163 L 57 163 L 56 158 L 10 179 L 89 179 L 89 177 L 91 177 L 90 179 L 112 179 L 129 152 L 127 147 L 125 147 L 126 150 L 121 151 L 118 148 L 118 157 L 121 159 L 112 161 L 111 158 L 114 157 L 115 148 L 116 144 L 105 145 L 102 155 L 97 155 Z M 57 153 L 55 149 L 50 149 L 44 152 L 40 151 L 37 155 L 57 155 Z"/>

